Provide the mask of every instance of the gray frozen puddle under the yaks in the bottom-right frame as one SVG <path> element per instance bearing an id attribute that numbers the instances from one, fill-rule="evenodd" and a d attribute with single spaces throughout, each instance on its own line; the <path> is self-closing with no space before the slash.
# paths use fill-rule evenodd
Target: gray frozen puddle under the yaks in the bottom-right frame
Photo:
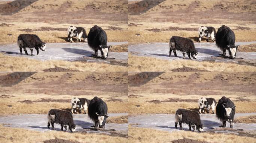
<path id="1" fill-rule="evenodd" d="M 256 115 L 256 113 L 236 113 L 235 118 L 240 116 L 249 116 Z M 215 117 L 215 114 L 200 114 L 201 121 L 204 125 L 204 131 L 210 131 L 213 128 L 219 128 L 219 125 L 222 125 L 220 120 Z M 154 128 L 158 130 L 164 131 L 180 131 L 180 127 L 178 124 L 178 128 L 174 127 L 175 118 L 174 114 L 147 114 L 147 115 L 138 115 L 131 116 L 128 118 L 128 123 L 135 127 L 143 127 L 143 128 Z M 226 123 L 227 127 L 229 127 L 229 123 Z M 189 126 L 187 124 L 182 124 L 182 127 L 185 130 L 189 130 Z M 234 124 L 234 129 L 243 129 L 243 130 L 256 130 L 256 124 Z M 193 130 L 193 129 L 192 129 Z M 230 132 L 230 131 L 221 131 L 221 132 Z"/>

